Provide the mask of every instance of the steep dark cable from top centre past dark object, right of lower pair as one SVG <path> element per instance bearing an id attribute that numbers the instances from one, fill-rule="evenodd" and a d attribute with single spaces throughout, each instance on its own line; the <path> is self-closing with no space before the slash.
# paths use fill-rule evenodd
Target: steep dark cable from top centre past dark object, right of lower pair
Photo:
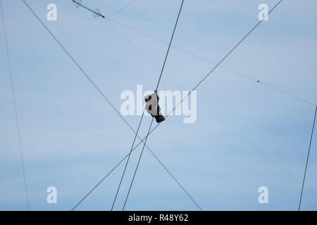
<path id="1" fill-rule="evenodd" d="M 184 4 L 184 0 L 182 0 L 182 3 L 180 4 L 180 11 L 178 12 L 178 17 L 177 17 L 176 22 L 175 22 L 175 26 L 174 26 L 174 30 L 173 30 L 172 37 L 170 37 L 170 44 L 168 45 L 168 50 L 166 51 L 166 56 L 165 56 L 165 59 L 164 59 L 164 62 L 163 62 L 163 66 L 162 66 L 162 69 L 161 69 L 161 73 L 160 73 L 160 76 L 159 76 L 159 81 L 158 81 L 157 84 L 156 84 L 155 93 L 157 93 L 157 89 L 159 88 L 159 84 L 160 84 L 160 82 L 161 82 L 161 77 L 162 77 L 162 75 L 163 75 L 163 70 L 164 70 L 165 65 L 166 65 L 166 60 L 167 60 L 167 58 L 168 58 L 168 53 L 170 52 L 170 46 L 171 46 L 171 44 L 172 44 L 172 42 L 173 42 L 173 37 L 174 37 L 174 34 L 175 34 L 176 27 L 177 27 L 177 25 L 178 25 L 178 20 L 179 20 L 179 18 L 180 18 L 180 12 L 182 11 L 182 5 L 183 5 L 183 4 Z M 159 112 L 158 112 L 158 113 L 159 113 Z M 143 117 L 143 114 L 144 114 L 144 110 L 143 110 L 143 113 L 142 113 L 142 117 Z M 142 117 L 141 117 L 140 123 L 141 123 L 141 121 L 142 121 Z M 154 117 L 152 117 L 151 124 L 150 124 L 150 126 L 149 126 L 149 131 L 151 130 L 151 127 L 152 127 L 152 124 L 153 124 L 153 120 L 154 120 Z M 149 131 L 147 131 L 147 137 L 149 136 Z M 142 151 L 141 151 L 141 153 L 140 153 L 140 155 L 139 155 L 139 160 L 137 161 L 137 167 L 135 167 L 135 173 L 133 174 L 133 178 L 132 178 L 132 181 L 131 181 L 131 184 L 130 184 L 130 187 L 129 187 L 128 194 L 127 194 L 127 196 L 125 197 L 125 203 L 124 203 L 124 205 L 123 205 L 123 210 L 125 209 L 125 205 L 126 205 L 126 203 L 127 203 L 128 197 L 129 197 L 129 195 L 130 195 L 130 191 L 131 191 L 131 188 L 132 188 L 132 184 L 133 184 L 133 181 L 135 180 L 135 174 L 137 174 L 137 169 L 139 168 L 139 162 L 141 161 L 141 158 L 142 158 L 142 155 L 143 155 L 143 151 L 144 151 L 144 146 L 146 145 L 146 143 L 147 143 L 147 138 L 146 138 L 145 141 L 144 141 L 144 145 L 143 145 L 143 147 L 142 147 Z M 133 148 L 133 146 L 134 146 L 134 142 L 133 142 L 133 144 L 132 144 L 132 148 Z M 132 150 L 132 148 L 131 148 L 131 150 Z M 128 162 L 127 162 L 127 163 L 128 163 Z M 112 210 L 112 209 L 111 209 L 111 210 Z"/>

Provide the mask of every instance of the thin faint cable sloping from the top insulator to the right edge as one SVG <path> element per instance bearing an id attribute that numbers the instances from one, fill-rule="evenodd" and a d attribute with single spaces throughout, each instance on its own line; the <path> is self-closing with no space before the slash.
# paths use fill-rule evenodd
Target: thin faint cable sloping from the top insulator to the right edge
<path id="1" fill-rule="evenodd" d="M 149 39 L 153 39 L 154 41 L 158 41 L 158 42 L 160 42 L 160 43 L 162 43 L 162 44 L 167 44 L 166 41 L 162 41 L 162 40 L 160 40 L 160 39 L 158 39 L 158 38 L 156 38 L 156 37 L 153 37 L 153 36 L 151 36 L 151 35 L 149 35 L 149 34 L 146 34 L 146 33 L 142 32 L 142 31 L 139 31 L 139 30 L 137 30 L 137 29 L 135 29 L 135 28 L 133 28 L 133 27 L 130 27 L 130 26 L 128 26 L 128 25 L 125 25 L 125 24 L 123 24 L 123 23 L 120 23 L 120 22 L 118 22 L 118 21 L 116 21 L 116 20 L 113 20 L 113 19 L 111 19 L 111 18 L 108 18 L 108 20 L 110 20 L 111 22 L 116 23 L 116 24 L 118 24 L 118 25 L 120 25 L 120 26 L 122 26 L 122 27 L 125 27 L 125 28 L 127 28 L 127 29 L 129 29 L 129 30 L 132 30 L 132 31 L 134 31 L 134 32 L 137 32 L 137 33 L 139 33 L 139 34 L 142 34 L 142 35 L 144 35 L 144 37 L 148 37 Z M 184 53 L 187 53 L 187 54 L 189 54 L 190 56 L 194 56 L 194 57 L 199 58 L 199 59 L 201 59 L 201 60 L 204 60 L 204 61 L 206 61 L 206 62 L 208 62 L 208 63 L 211 63 L 211 64 L 213 64 L 213 65 L 217 65 L 217 63 L 214 63 L 213 61 L 211 61 L 211 60 L 209 60 L 209 59 L 207 59 L 207 58 L 204 58 L 204 57 L 202 57 L 202 56 L 198 56 L 197 54 L 192 53 L 192 52 L 190 52 L 190 51 L 187 51 L 187 50 L 185 50 L 185 49 L 181 49 L 181 48 L 178 47 L 178 46 L 173 46 L 173 45 L 172 45 L 172 47 L 173 47 L 174 49 L 178 49 L 179 51 L 182 51 L 182 52 L 184 52 Z M 276 85 L 268 84 L 268 83 L 266 83 L 266 82 L 260 82 L 258 79 L 254 79 L 253 77 L 250 77 L 249 75 L 245 75 L 245 74 L 242 73 L 242 72 L 237 72 L 237 71 L 232 70 L 232 69 L 230 69 L 230 68 L 227 68 L 227 67 L 225 67 L 225 66 L 223 66 L 223 65 L 219 65 L 219 67 L 220 67 L 220 68 L 223 68 L 224 70 L 228 70 L 229 72 L 235 73 L 236 75 L 240 75 L 241 77 L 244 77 L 244 78 L 246 78 L 246 79 L 249 79 L 249 80 L 251 80 L 251 81 L 253 81 L 253 82 L 256 82 L 256 83 L 258 83 L 258 84 L 261 84 L 261 85 L 263 85 L 263 86 L 266 86 L 266 87 L 268 87 L 268 88 L 270 88 L 270 89 L 273 89 L 273 90 L 275 90 L 275 91 L 278 91 L 278 92 L 280 92 L 280 94 L 285 94 L 286 96 L 289 96 L 289 97 L 291 97 L 291 98 L 294 98 L 294 99 L 296 99 L 297 101 L 302 101 L 302 103 L 306 103 L 306 104 L 308 104 L 308 105 L 315 106 L 315 104 L 313 104 L 313 103 L 311 103 L 311 102 L 309 102 L 309 101 L 306 101 L 306 100 L 304 100 L 303 98 L 299 98 L 299 97 L 297 97 L 297 96 L 294 96 L 293 94 L 289 94 L 289 93 L 287 93 L 286 91 L 282 91 L 281 89 L 278 89 L 278 88 L 276 87 Z"/>

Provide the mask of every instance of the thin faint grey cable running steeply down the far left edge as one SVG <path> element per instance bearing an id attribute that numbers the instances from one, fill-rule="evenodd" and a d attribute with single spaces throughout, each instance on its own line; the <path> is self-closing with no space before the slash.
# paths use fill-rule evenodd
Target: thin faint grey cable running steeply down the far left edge
<path id="1" fill-rule="evenodd" d="M 13 97 L 15 122 L 16 122 L 16 128 L 17 128 L 17 132 L 18 132 L 18 143 L 19 143 L 20 158 L 21 158 L 22 171 L 23 171 L 25 198 L 26 198 L 26 201 L 27 201 L 27 210 L 30 211 L 29 196 L 28 196 L 28 192 L 27 192 L 27 181 L 26 181 L 26 173 L 25 173 L 25 164 L 24 164 L 23 149 L 22 149 L 22 143 L 21 143 L 22 141 L 21 141 L 21 133 L 20 133 L 20 124 L 19 124 L 19 120 L 18 120 L 18 108 L 17 108 L 17 104 L 16 104 L 16 99 L 15 99 L 15 88 L 14 88 L 14 82 L 13 82 L 12 69 L 11 69 L 10 53 L 8 51 L 8 39 L 7 39 L 7 35 L 6 35 L 6 22 L 4 20 L 4 6 L 2 5 L 2 1 L 1 0 L 0 0 L 0 6 L 1 6 L 2 23 L 4 25 L 4 39 L 6 41 L 6 54 L 8 56 L 8 68 L 9 68 L 10 80 L 11 80 L 11 90 L 12 90 L 12 97 Z"/>

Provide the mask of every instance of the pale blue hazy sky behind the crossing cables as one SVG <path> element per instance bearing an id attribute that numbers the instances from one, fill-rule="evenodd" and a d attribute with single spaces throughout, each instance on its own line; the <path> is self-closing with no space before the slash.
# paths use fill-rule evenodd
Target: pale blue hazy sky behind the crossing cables
<path id="1" fill-rule="evenodd" d="M 119 12 L 130 0 L 82 1 L 118 12 L 111 20 L 70 0 L 26 1 L 117 110 L 123 91 L 155 89 L 180 0 L 135 0 Z M 1 2 L 30 210 L 72 210 L 129 153 L 134 133 L 23 1 Z M 259 4 L 277 2 L 185 0 L 159 90 L 191 90 L 259 23 Z M 51 3 L 56 21 L 46 19 Z M 316 8 L 313 0 L 282 1 L 199 85 L 197 121 L 170 116 L 149 136 L 147 146 L 202 210 L 298 209 L 317 103 Z M 27 210 L 2 22 L 0 49 L 0 210 Z M 124 118 L 137 129 L 140 116 Z M 144 117 L 139 136 L 150 122 Z M 122 210 L 141 150 L 131 155 L 114 210 Z M 123 168 L 76 210 L 110 210 Z M 302 210 L 317 210 L 316 177 L 315 133 Z M 57 204 L 46 202 L 49 186 Z M 258 201 L 261 186 L 267 204 Z M 144 149 L 125 210 L 199 208 Z"/>

